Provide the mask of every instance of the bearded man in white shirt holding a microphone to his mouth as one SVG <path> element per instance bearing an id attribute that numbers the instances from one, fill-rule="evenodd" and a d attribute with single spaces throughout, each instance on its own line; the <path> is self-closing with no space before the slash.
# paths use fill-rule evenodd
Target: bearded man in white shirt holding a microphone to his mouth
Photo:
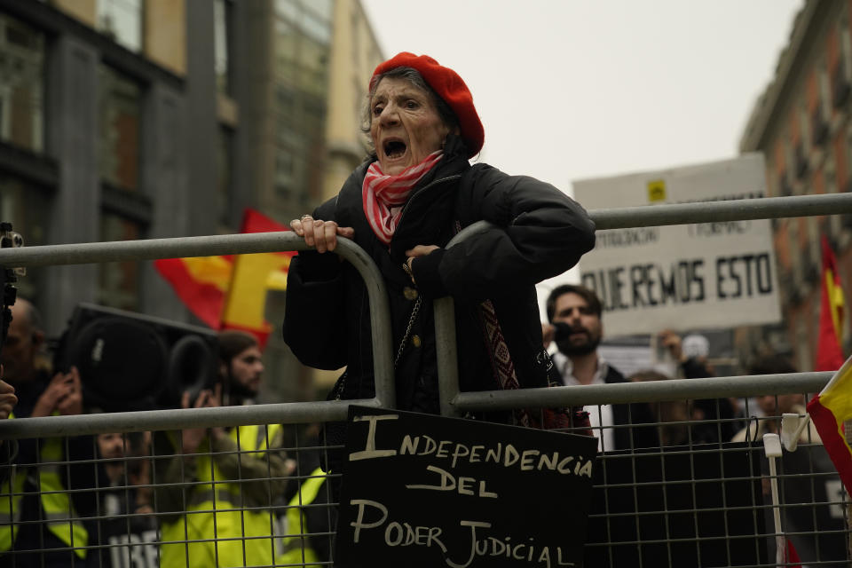
<path id="1" fill-rule="evenodd" d="M 604 327 L 601 301 L 594 291 L 572 284 L 558 286 L 548 296 L 547 312 L 550 323 L 542 325 L 544 344 L 556 341 L 553 362 L 564 384 L 627 383 L 597 352 Z M 647 405 L 588 406 L 586 410 L 601 451 L 659 446 L 656 429 L 639 426 L 654 422 Z"/>

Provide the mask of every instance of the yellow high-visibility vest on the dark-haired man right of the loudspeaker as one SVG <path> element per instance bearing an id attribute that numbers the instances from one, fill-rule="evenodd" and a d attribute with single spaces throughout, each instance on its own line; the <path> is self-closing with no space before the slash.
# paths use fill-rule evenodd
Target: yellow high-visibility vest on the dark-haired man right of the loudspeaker
<path id="1" fill-rule="evenodd" d="M 241 452 L 258 451 L 248 455 L 263 459 L 268 440 L 280 430 L 280 424 L 240 426 L 229 436 Z M 272 512 L 242 509 L 240 485 L 226 478 L 209 454 L 194 459 L 198 483 L 186 492 L 186 514 L 161 527 L 162 568 L 272 565 Z"/>

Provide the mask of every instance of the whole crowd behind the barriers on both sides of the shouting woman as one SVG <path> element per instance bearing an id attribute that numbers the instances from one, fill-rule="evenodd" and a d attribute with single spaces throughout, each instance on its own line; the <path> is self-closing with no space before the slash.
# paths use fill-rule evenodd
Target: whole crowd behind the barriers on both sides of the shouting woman
<path id="1" fill-rule="evenodd" d="M 97 411 L 85 406 L 85 377 L 76 368 L 49 371 L 36 308 L 20 300 L 13 317 L 3 350 L 0 417 Z M 659 341 L 676 363 L 675 376 L 656 370 L 621 375 L 598 352 L 601 304 L 587 288 L 556 288 L 542 332 L 544 343 L 556 346 L 553 360 L 564 384 L 713 375 L 706 355 L 688 355 L 680 336 L 671 332 Z M 256 339 L 228 331 L 219 335 L 218 345 L 218 383 L 194 399 L 186 392 L 181 406 L 253 403 L 264 371 Z M 749 368 L 753 375 L 793 372 L 780 357 L 759 359 Z M 782 414 L 805 414 L 802 395 L 767 395 L 755 401 L 760 414 L 754 416 L 744 414 L 746 404 L 736 398 L 587 410 L 601 451 L 759 442 L 762 434 L 777 432 Z M 307 446 L 321 446 L 319 432 L 313 427 L 302 434 L 310 440 Z M 11 477 L 12 468 L 0 466 L 2 493 L 12 493 L 12 499 L 0 500 L 0 514 L 13 519 L 12 525 L 0 526 L 0 532 L 9 531 L 0 533 L 0 546 L 5 546 L 0 554 L 13 551 L 17 566 L 206 566 L 240 564 L 243 558 L 248 564 L 272 564 L 301 562 L 303 554 L 308 562 L 327 560 L 334 509 L 304 507 L 305 492 L 315 504 L 333 501 L 327 487 L 307 487 L 323 484 L 321 452 L 294 450 L 286 438 L 281 425 L 267 425 L 6 441 L 0 459 L 14 464 L 17 473 Z M 804 430 L 802 441 L 818 443 L 817 432 Z M 296 533 L 323 536 L 312 542 L 288 538 L 288 525 L 294 524 L 301 527 Z M 252 538 L 243 540 L 246 535 Z"/>

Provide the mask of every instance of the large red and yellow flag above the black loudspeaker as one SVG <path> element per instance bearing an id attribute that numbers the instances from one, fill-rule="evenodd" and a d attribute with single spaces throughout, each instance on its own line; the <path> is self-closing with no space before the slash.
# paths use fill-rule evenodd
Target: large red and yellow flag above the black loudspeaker
<path id="1" fill-rule="evenodd" d="M 254 209 L 246 209 L 241 233 L 289 231 Z M 241 329 L 263 347 L 272 327 L 264 318 L 266 291 L 287 288 L 294 251 L 236 256 L 197 256 L 154 261 L 190 312 L 212 329 Z"/>

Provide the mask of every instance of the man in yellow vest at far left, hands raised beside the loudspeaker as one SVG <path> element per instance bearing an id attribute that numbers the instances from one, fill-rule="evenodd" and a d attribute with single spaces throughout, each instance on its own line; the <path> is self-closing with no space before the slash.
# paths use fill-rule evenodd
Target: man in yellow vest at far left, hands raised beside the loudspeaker
<path id="1" fill-rule="evenodd" d="M 44 343 L 41 317 L 19 298 L 3 346 L 4 378 L 18 397 L 15 418 L 82 414 L 75 368 L 51 375 L 36 365 Z M 91 436 L 19 440 L 15 469 L 0 485 L 0 564 L 17 567 L 85 564 L 95 516 Z M 81 491 L 83 490 L 83 491 Z"/>

